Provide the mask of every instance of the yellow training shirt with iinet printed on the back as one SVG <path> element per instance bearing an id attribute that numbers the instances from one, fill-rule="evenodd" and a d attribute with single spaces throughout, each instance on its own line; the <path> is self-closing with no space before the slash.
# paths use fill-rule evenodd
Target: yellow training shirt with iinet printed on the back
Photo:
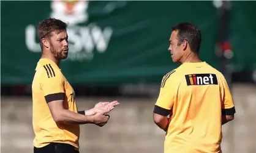
<path id="1" fill-rule="evenodd" d="M 219 71 L 183 63 L 163 77 L 154 113 L 170 115 L 165 153 L 220 153 L 222 115 L 233 115 L 235 106 Z"/>

